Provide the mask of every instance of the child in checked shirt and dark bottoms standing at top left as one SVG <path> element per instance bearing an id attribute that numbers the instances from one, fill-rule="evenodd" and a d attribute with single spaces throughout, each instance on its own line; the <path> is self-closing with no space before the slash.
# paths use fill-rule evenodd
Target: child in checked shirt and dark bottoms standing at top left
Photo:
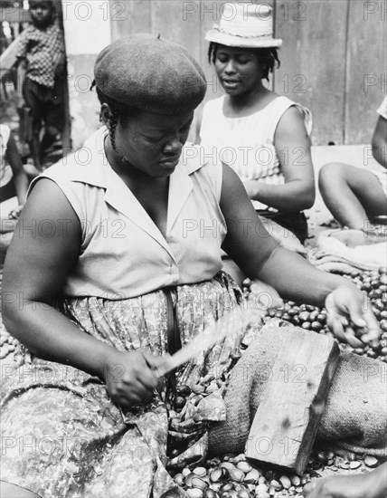
<path id="1" fill-rule="evenodd" d="M 19 108 L 31 110 L 33 137 L 29 146 L 35 168 L 41 170 L 43 153 L 55 142 L 64 124 L 64 43 L 52 0 L 30 0 L 29 5 L 32 24 L 20 37 L 17 81 Z"/>

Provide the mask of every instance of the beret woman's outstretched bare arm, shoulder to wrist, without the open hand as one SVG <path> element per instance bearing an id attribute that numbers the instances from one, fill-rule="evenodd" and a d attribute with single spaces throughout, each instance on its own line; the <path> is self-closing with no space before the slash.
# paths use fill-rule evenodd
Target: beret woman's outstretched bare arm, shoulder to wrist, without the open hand
<path id="1" fill-rule="evenodd" d="M 227 254 L 250 278 L 269 283 L 281 297 L 323 306 L 327 294 L 346 283 L 280 247 L 261 224 L 241 180 L 227 166 L 223 166 L 221 207 L 229 225 L 223 244 Z"/>

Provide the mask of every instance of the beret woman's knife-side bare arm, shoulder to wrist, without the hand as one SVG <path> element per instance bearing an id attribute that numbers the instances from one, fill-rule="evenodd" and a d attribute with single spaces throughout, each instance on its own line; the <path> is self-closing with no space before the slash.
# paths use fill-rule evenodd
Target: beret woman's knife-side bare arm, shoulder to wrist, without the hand
<path id="1" fill-rule="evenodd" d="M 50 220 L 50 236 L 44 236 L 42 220 Z M 40 358 L 100 377 L 109 346 L 81 333 L 52 307 L 79 252 L 77 215 L 59 187 L 40 180 L 24 206 L 5 259 L 5 326 Z"/>

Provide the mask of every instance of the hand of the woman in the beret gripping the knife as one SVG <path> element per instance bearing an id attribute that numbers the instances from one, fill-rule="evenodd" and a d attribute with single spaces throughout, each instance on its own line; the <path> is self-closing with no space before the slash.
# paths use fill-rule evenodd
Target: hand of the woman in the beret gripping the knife
<path id="1" fill-rule="evenodd" d="M 163 361 L 145 351 L 117 351 L 109 359 L 104 378 L 109 395 L 118 407 L 129 408 L 154 396 L 160 381 L 156 368 Z"/>

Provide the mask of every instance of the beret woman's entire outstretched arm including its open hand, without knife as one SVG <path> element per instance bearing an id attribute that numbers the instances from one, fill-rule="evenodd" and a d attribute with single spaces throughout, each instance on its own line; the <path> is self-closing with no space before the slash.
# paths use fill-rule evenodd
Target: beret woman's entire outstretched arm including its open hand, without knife
<path id="1" fill-rule="evenodd" d="M 250 279 L 269 283 L 285 299 L 326 305 L 332 321 L 335 314 L 342 314 L 359 327 L 366 324 L 369 340 L 379 336 L 370 307 L 363 311 L 363 293 L 344 278 L 321 272 L 300 255 L 278 246 L 261 224 L 240 178 L 227 166 L 223 166 L 221 208 L 228 227 L 223 247 Z M 338 326 L 334 331 L 348 340 Z M 348 342 L 356 344 L 354 347 L 362 345 L 355 338 Z"/>

